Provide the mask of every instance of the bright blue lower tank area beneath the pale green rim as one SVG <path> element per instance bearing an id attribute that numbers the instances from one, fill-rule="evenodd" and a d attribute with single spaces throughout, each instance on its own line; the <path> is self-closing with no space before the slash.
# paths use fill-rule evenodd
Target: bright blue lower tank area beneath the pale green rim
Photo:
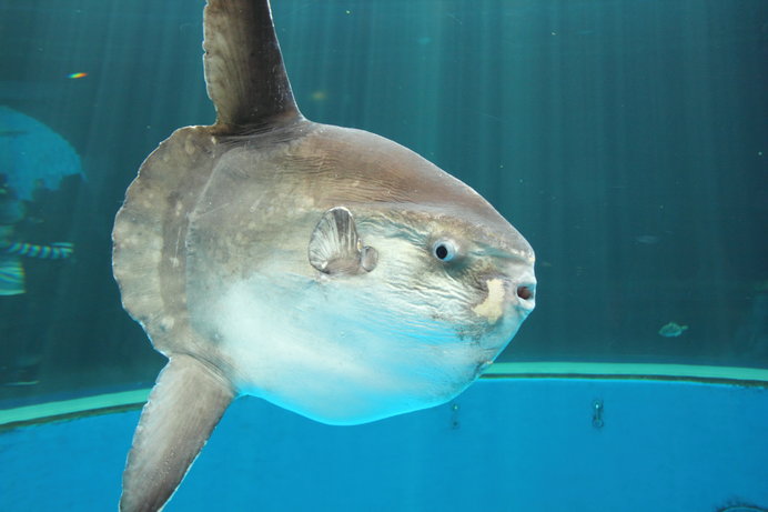
<path id="1" fill-rule="evenodd" d="M 603 402 L 603 426 L 593 403 Z M 0 510 L 111 510 L 138 412 L 0 436 Z M 714 512 L 768 506 L 768 390 L 484 380 L 454 403 L 326 426 L 226 412 L 168 511 Z"/>

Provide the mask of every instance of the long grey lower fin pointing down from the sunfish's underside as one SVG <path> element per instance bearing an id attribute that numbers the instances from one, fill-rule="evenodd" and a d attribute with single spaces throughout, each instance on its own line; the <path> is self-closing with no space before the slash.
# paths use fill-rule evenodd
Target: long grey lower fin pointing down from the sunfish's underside
<path id="1" fill-rule="evenodd" d="M 188 355 L 171 358 L 133 435 L 121 512 L 162 509 L 233 398 L 229 382 L 200 361 Z"/>

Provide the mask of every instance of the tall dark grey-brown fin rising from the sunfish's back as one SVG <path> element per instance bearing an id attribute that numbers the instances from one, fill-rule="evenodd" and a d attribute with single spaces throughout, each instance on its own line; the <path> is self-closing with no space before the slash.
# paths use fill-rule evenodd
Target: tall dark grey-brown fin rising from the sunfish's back
<path id="1" fill-rule="evenodd" d="M 209 0 L 203 19 L 205 83 L 216 126 L 236 130 L 299 118 L 269 0 Z"/>

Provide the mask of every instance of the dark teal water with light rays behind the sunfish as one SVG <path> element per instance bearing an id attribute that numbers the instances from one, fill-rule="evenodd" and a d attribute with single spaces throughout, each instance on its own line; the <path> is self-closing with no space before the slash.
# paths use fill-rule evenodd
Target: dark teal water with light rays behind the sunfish
<path id="1" fill-rule="evenodd" d="M 110 230 L 143 158 L 214 119 L 202 7 L 0 1 L 0 104 L 64 137 L 87 175 L 33 233 L 77 260 L 30 261 L 31 313 L 1 319 L 33 334 L 40 383 L 0 399 L 144 385 L 162 365 L 120 308 Z M 768 2 L 273 9 L 307 118 L 420 152 L 535 248 L 537 309 L 503 360 L 768 368 Z M 659 335 L 668 322 L 688 329 Z"/>

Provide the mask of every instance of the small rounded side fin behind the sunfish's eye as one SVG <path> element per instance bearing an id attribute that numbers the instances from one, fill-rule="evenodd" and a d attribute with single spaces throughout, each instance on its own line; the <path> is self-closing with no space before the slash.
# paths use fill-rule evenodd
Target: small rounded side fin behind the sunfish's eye
<path id="1" fill-rule="evenodd" d="M 378 261 L 376 250 L 363 244 L 346 208 L 323 213 L 310 238 L 309 253 L 312 267 L 327 274 L 371 272 Z"/>

